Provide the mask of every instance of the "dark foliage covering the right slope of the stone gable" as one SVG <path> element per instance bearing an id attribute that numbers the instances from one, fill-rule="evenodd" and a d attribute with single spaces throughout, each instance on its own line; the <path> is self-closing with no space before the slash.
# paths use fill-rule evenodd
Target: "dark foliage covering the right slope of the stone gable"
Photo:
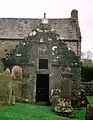
<path id="1" fill-rule="evenodd" d="M 63 70 L 65 68 L 73 69 L 81 65 L 80 58 L 75 54 L 75 52 L 69 50 L 67 44 L 63 41 L 60 41 L 57 45 L 55 55 L 58 56 L 58 62 Z"/>

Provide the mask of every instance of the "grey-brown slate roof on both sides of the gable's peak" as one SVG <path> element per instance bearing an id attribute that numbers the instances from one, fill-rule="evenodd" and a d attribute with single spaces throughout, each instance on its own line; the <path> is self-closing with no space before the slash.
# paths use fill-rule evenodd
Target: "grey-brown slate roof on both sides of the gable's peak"
<path id="1" fill-rule="evenodd" d="M 71 18 L 60 18 L 48 19 L 48 21 L 63 39 L 80 40 L 81 33 L 77 20 L 72 21 Z M 0 38 L 24 38 L 39 23 L 41 23 L 41 19 L 0 18 Z"/>

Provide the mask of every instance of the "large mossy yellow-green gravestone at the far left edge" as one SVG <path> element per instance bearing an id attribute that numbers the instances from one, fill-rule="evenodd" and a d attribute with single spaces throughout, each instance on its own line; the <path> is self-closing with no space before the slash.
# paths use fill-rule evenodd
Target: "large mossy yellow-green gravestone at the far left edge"
<path id="1" fill-rule="evenodd" d="M 13 80 L 8 69 L 4 73 L 0 73 L 0 104 L 11 104 L 12 99 Z"/>

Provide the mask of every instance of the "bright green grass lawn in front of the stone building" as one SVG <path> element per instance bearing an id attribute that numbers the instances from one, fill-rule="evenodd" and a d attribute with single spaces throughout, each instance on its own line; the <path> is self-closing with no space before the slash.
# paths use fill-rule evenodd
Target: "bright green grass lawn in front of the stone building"
<path id="1" fill-rule="evenodd" d="M 84 120 L 86 109 L 74 110 L 77 119 Z M 0 120 L 71 120 L 57 116 L 52 112 L 52 107 L 16 103 L 14 106 L 0 106 Z"/>

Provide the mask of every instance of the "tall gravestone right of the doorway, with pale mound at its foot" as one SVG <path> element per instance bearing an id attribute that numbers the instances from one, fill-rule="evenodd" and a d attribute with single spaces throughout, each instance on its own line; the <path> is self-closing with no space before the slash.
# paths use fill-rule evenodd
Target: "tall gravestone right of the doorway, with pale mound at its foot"
<path id="1" fill-rule="evenodd" d="M 69 116 L 73 108 L 71 106 L 71 90 L 73 75 L 69 72 L 62 73 L 63 80 L 61 85 L 61 92 L 55 105 L 55 112 L 57 114 Z"/>

